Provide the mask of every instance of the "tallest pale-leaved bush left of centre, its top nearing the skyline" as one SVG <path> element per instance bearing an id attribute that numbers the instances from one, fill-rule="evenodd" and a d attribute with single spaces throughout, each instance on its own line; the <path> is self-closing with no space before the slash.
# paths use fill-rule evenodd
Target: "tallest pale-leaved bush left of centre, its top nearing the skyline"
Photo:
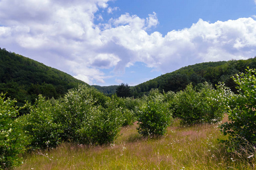
<path id="1" fill-rule="evenodd" d="M 56 108 L 56 122 L 61 125 L 61 138 L 67 142 L 79 142 L 81 137 L 79 129 L 81 122 L 86 122 L 92 117 L 96 100 L 89 93 L 88 87 L 79 86 L 69 90 L 68 93 L 59 100 Z M 88 126 L 88 125 L 86 125 Z"/>

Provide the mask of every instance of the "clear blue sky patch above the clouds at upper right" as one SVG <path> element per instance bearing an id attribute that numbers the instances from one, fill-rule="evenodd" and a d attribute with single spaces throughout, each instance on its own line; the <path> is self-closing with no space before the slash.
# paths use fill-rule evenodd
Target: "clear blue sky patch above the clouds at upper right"
<path id="1" fill-rule="evenodd" d="M 148 14 L 156 12 L 159 25 L 155 31 L 163 35 L 173 29 L 189 28 L 201 18 L 211 23 L 217 20 L 226 21 L 229 19 L 248 18 L 255 15 L 255 3 L 250 0 L 176 0 L 176 1 L 113 1 L 109 3 L 112 7 L 119 7 L 115 17 L 129 12 L 131 15 L 138 15 L 146 18 Z M 106 16 L 108 18 L 108 16 Z"/>

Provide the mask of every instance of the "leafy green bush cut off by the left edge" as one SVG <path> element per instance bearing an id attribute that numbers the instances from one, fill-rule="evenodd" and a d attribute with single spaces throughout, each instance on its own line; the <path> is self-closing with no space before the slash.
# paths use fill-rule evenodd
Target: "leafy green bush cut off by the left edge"
<path id="1" fill-rule="evenodd" d="M 19 109 L 15 100 L 0 94 L 0 169 L 19 165 L 22 161 L 20 154 L 26 150 L 28 139 L 20 129 Z"/>

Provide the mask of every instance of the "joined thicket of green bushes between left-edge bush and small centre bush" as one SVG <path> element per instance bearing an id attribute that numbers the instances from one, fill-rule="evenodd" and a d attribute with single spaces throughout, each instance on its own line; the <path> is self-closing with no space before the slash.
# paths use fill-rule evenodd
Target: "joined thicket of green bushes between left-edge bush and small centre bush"
<path id="1" fill-rule="evenodd" d="M 98 102 L 95 96 L 102 97 L 100 92 L 82 85 L 59 100 L 39 96 L 30 106 L 30 114 L 20 118 L 31 137 L 31 147 L 56 147 L 61 142 L 113 142 L 123 122 L 122 108 L 115 99 L 105 96 Z"/>

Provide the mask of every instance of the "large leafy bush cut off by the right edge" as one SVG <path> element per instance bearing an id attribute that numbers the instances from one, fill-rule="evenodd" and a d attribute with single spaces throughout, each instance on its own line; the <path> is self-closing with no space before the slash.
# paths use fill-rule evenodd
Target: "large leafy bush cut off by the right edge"
<path id="1" fill-rule="evenodd" d="M 255 69 L 246 69 L 246 73 L 233 76 L 238 84 L 238 95 L 233 95 L 228 108 L 229 122 L 221 125 L 224 135 L 229 135 L 229 145 L 251 143 L 256 146 L 256 77 Z"/>

